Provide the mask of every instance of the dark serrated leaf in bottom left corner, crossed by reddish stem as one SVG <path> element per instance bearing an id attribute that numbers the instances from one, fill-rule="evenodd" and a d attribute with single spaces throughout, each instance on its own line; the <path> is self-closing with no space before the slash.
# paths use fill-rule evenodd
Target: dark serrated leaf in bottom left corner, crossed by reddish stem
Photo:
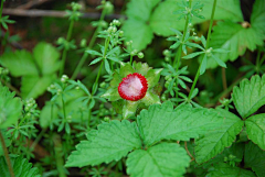
<path id="1" fill-rule="evenodd" d="M 41 177 L 36 167 L 32 168 L 32 164 L 28 159 L 20 157 L 11 158 L 13 173 L 15 177 Z M 0 156 L 0 175 L 10 177 L 9 168 L 3 156 Z"/>

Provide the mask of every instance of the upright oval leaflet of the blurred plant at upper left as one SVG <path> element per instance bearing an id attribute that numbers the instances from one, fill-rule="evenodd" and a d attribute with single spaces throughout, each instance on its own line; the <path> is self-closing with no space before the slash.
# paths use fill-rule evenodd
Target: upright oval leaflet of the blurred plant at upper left
<path id="1" fill-rule="evenodd" d="M 33 49 L 33 56 L 42 75 L 51 75 L 61 66 L 60 53 L 49 43 L 39 43 Z"/>

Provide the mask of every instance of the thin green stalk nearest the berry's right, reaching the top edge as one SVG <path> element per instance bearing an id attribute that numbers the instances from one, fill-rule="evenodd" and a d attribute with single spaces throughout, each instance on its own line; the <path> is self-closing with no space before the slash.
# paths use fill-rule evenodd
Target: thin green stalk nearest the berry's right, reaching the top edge
<path id="1" fill-rule="evenodd" d="M 192 3 L 192 0 L 189 0 L 189 8 L 191 8 L 191 3 Z M 183 36 L 182 36 L 182 38 L 181 38 L 181 44 L 180 44 L 180 46 L 179 46 L 179 48 L 178 48 L 177 55 L 176 55 L 174 60 L 173 60 L 173 67 L 176 66 L 176 62 L 177 62 L 176 71 L 179 70 L 180 58 L 181 58 L 181 54 L 182 54 L 182 44 L 183 44 L 184 38 L 186 38 L 188 25 L 189 25 L 189 16 L 187 15 L 187 18 L 186 18 L 184 31 L 183 31 Z M 178 79 L 176 79 L 176 86 L 178 87 Z M 178 90 L 177 90 L 177 91 L 176 91 L 176 98 L 178 99 L 178 97 L 179 97 L 179 92 L 178 92 Z M 178 104 L 178 103 L 177 103 L 177 104 Z"/>

